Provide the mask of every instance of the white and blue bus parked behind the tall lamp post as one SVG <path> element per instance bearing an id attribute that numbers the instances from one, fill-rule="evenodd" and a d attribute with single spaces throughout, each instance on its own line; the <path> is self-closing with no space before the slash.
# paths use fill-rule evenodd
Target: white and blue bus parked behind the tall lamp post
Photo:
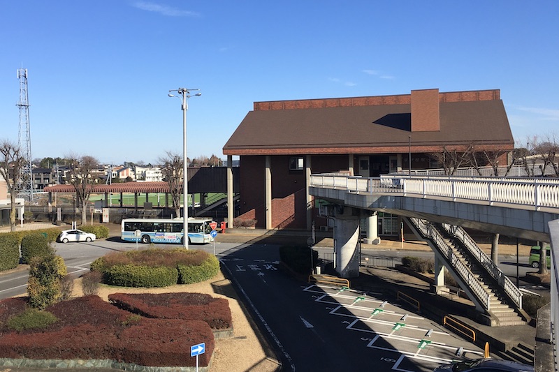
<path id="1" fill-rule="evenodd" d="M 188 242 L 206 244 L 212 241 L 212 218 L 188 218 Z M 120 239 L 142 243 L 182 244 L 182 218 L 125 218 L 121 222 Z"/>

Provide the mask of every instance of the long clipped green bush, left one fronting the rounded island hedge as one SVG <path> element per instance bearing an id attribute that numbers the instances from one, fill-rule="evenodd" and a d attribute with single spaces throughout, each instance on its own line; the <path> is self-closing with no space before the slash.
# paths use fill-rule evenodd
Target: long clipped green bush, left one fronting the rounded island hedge
<path id="1" fill-rule="evenodd" d="M 144 265 L 115 265 L 103 274 L 103 280 L 121 287 L 168 287 L 177 284 L 175 267 L 149 267 Z"/>

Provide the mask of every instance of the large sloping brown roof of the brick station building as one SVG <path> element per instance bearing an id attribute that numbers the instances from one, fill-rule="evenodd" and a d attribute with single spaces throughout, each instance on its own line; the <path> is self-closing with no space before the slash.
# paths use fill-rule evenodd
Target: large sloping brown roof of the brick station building
<path id="1" fill-rule="evenodd" d="M 514 139 L 498 93 L 498 90 L 463 92 L 463 96 L 474 97 L 471 101 L 443 99 L 450 96 L 442 93 L 440 131 L 425 132 L 411 131 L 409 103 L 319 108 L 292 104 L 293 109 L 286 109 L 285 103 L 280 105 L 288 101 L 255 103 L 256 110 L 242 120 L 223 152 L 226 155 L 407 153 L 409 135 L 414 152 L 438 151 L 445 145 L 465 149 L 470 144 L 477 149 L 511 150 Z M 490 99 L 479 99 L 482 94 Z M 401 102 L 405 96 L 398 97 Z"/>

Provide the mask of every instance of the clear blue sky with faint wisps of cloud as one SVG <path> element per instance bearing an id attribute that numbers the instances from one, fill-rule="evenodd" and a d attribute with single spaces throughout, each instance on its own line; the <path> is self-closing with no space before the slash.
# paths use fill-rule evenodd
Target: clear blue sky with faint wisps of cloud
<path id="1" fill-rule="evenodd" d="M 0 0 L 0 140 L 29 71 L 33 158 L 222 148 L 254 101 L 500 89 L 515 140 L 559 124 L 559 1 Z"/>

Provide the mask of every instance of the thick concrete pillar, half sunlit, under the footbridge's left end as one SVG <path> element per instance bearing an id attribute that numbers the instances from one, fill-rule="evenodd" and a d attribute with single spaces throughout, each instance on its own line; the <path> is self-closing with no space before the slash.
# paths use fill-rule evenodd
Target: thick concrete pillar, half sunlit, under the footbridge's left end
<path id="1" fill-rule="evenodd" d="M 335 216 L 336 255 L 335 268 L 342 278 L 359 276 L 359 217 L 351 215 L 345 207 L 344 214 Z"/>

